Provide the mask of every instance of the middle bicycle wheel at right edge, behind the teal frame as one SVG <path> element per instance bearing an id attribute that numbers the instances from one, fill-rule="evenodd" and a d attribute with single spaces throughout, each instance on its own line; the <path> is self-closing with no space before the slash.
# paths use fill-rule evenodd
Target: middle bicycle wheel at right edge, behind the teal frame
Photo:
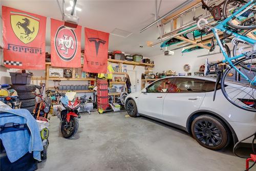
<path id="1" fill-rule="evenodd" d="M 233 46 L 233 56 L 238 56 L 240 54 L 245 54 L 247 52 L 251 52 L 254 48 L 254 45 L 248 44 L 247 42 L 244 41 L 237 41 L 236 45 Z M 255 57 L 255 55 L 254 55 Z M 254 67 L 254 63 L 256 63 L 256 58 L 253 58 L 253 56 L 248 57 L 248 59 L 251 59 L 249 62 L 250 63 L 245 63 L 245 62 L 240 62 L 239 65 L 246 69 L 246 70 L 250 70 L 250 71 L 256 71 L 256 68 Z M 236 61 L 238 61 L 239 59 L 235 59 Z"/>

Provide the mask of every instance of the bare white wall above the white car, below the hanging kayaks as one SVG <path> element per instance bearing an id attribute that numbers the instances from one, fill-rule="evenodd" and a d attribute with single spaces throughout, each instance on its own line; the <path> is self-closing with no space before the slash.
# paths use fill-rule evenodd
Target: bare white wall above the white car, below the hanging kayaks
<path id="1" fill-rule="evenodd" d="M 194 75 L 194 72 L 199 72 L 199 68 L 201 65 L 205 63 L 205 59 L 208 58 L 208 60 L 211 62 L 222 60 L 224 57 L 222 53 L 219 53 L 219 47 L 215 49 L 213 53 L 219 53 L 214 55 L 208 55 L 204 57 L 198 57 L 200 55 L 207 55 L 209 52 L 206 49 L 200 49 L 188 53 L 181 53 L 181 49 L 175 50 L 175 54 L 173 56 L 164 56 L 164 54 L 153 56 L 150 59 L 154 60 L 155 68 L 154 73 L 156 72 L 162 72 L 166 70 L 174 70 L 176 71 L 176 74 L 179 73 L 191 73 Z M 185 72 L 183 70 L 183 66 L 185 64 L 188 64 L 190 66 L 190 70 L 188 72 Z"/>

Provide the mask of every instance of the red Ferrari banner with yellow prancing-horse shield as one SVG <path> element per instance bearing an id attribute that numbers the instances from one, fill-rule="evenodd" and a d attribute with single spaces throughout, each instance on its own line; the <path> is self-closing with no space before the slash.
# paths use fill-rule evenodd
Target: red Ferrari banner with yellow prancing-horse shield
<path id="1" fill-rule="evenodd" d="M 44 70 L 46 17 L 5 6 L 2 11 L 5 67 Z"/>

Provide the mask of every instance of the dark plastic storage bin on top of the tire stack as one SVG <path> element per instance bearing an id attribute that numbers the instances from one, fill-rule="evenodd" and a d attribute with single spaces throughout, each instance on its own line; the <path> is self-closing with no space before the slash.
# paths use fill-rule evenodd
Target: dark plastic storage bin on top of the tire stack
<path id="1" fill-rule="evenodd" d="M 12 84 L 30 84 L 33 74 L 10 72 Z"/>

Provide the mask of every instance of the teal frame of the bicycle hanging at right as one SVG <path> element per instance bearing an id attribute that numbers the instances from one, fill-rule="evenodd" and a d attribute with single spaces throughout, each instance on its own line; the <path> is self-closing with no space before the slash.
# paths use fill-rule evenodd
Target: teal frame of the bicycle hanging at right
<path id="1" fill-rule="evenodd" d="M 234 56 L 234 57 L 228 57 L 225 49 L 223 48 L 223 45 L 221 43 L 220 37 L 218 35 L 218 30 L 221 30 L 222 32 L 226 32 L 227 34 L 230 34 L 234 37 L 237 37 L 238 39 L 242 40 L 242 41 L 246 41 L 251 45 L 256 45 L 256 40 L 251 39 L 249 37 L 243 36 L 241 34 L 235 33 L 231 30 L 228 30 L 226 28 L 227 23 L 229 22 L 229 20 L 231 20 L 234 17 L 240 16 L 241 14 L 243 14 L 244 12 L 246 12 L 248 9 L 250 9 L 251 7 L 253 7 L 255 5 L 255 0 L 251 0 L 249 1 L 245 6 L 243 6 L 242 8 L 240 8 L 238 11 L 234 12 L 233 14 L 231 14 L 229 17 L 227 17 L 226 19 L 224 19 L 221 23 L 219 23 L 217 26 L 215 26 L 215 28 L 212 28 L 212 32 L 214 33 L 216 40 L 217 40 L 217 44 L 219 45 L 222 54 L 224 55 L 225 59 L 222 62 L 228 62 L 230 66 L 232 66 L 240 75 L 242 75 L 242 77 L 244 77 L 248 82 L 250 82 L 251 84 L 255 85 L 256 84 L 256 78 L 253 78 L 253 80 L 250 80 L 245 74 L 243 74 L 238 68 L 236 68 L 233 65 L 232 60 L 234 59 L 238 59 L 241 57 L 246 57 L 246 54 L 240 54 L 238 56 Z"/>

